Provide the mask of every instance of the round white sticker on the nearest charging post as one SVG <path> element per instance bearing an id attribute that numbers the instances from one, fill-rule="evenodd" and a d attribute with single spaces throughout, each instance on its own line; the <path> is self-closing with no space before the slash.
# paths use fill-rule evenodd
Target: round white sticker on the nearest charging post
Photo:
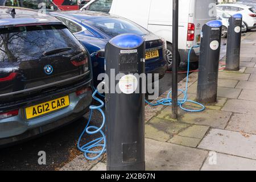
<path id="1" fill-rule="evenodd" d="M 138 87 L 138 80 L 134 75 L 125 75 L 119 80 L 118 85 L 122 93 L 132 94 Z"/>

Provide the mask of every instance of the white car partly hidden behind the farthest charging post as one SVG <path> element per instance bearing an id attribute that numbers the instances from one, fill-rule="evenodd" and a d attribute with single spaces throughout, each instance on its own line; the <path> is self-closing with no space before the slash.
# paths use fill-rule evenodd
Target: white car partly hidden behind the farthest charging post
<path id="1" fill-rule="evenodd" d="M 220 9 L 217 9 L 217 19 L 222 22 L 222 32 L 221 32 L 221 38 L 226 38 L 228 35 L 228 27 L 229 27 L 229 18 L 231 17 L 230 14 L 226 13 L 225 11 L 222 11 Z M 242 22 L 242 32 L 246 32 L 247 28 L 245 26 L 245 23 Z"/>

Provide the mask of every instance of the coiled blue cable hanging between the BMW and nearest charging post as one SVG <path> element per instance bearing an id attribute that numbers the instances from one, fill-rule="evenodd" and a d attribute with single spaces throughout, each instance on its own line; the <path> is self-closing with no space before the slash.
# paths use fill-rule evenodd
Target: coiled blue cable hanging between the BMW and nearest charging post
<path id="1" fill-rule="evenodd" d="M 105 125 L 106 118 L 105 118 L 104 111 L 101 109 L 102 107 L 104 107 L 104 102 L 96 97 L 97 93 L 98 93 L 98 90 L 95 90 L 94 93 L 93 93 L 93 98 L 94 98 L 94 100 L 100 102 L 101 105 L 100 106 L 93 106 L 92 105 L 92 106 L 89 107 L 90 108 L 90 115 L 89 115 L 88 123 L 85 126 L 84 131 L 82 131 L 82 133 L 81 133 L 81 135 L 79 137 L 79 140 L 77 142 L 77 148 L 79 148 L 79 150 L 81 152 L 84 152 L 84 156 L 88 160 L 96 160 L 96 159 L 100 158 L 100 156 L 104 152 L 106 152 L 106 136 L 105 136 L 104 132 L 102 131 L 102 128 Z M 103 117 L 102 125 L 100 127 L 89 126 L 90 121 L 92 119 L 93 110 L 100 111 L 100 113 L 101 113 L 101 115 Z M 85 133 L 87 133 L 89 135 L 93 135 L 93 134 L 96 134 L 96 133 L 99 133 L 99 132 L 101 133 L 102 137 L 94 139 L 93 141 L 91 141 L 89 143 L 86 143 L 83 146 L 80 145 L 81 138 L 84 136 Z M 102 144 L 102 142 L 103 142 L 103 144 Z M 100 151 L 92 151 L 92 149 L 96 148 L 96 147 L 102 147 L 102 150 L 100 150 Z M 94 157 L 90 157 L 90 156 L 88 156 L 89 154 L 94 154 L 94 155 L 97 154 L 97 155 L 94 156 Z"/>

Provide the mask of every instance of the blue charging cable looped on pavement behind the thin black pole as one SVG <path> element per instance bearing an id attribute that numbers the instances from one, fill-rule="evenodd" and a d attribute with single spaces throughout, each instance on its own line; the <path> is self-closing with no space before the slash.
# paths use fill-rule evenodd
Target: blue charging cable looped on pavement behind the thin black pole
<path id="1" fill-rule="evenodd" d="M 186 87 L 185 87 L 185 91 L 184 90 L 181 90 L 179 89 L 179 92 L 182 92 L 184 97 L 183 99 L 179 99 L 177 101 L 177 105 L 180 106 L 180 109 L 184 110 L 184 111 L 188 111 L 188 112 L 200 112 L 200 111 L 203 111 L 205 110 L 205 106 L 203 104 L 200 104 L 199 102 L 196 102 L 196 101 L 191 101 L 191 100 L 188 100 L 188 96 L 187 96 L 187 92 L 188 92 L 188 76 L 189 76 L 189 63 L 190 63 L 190 55 L 191 55 L 191 51 L 193 48 L 196 48 L 196 47 L 199 47 L 198 45 L 196 46 L 193 46 L 191 47 L 191 49 L 189 49 L 189 52 L 188 52 L 188 69 L 187 69 L 187 81 L 186 81 Z M 172 99 L 171 99 L 171 94 L 172 94 L 172 91 L 170 91 L 167 95 L 167 98 L 163 98 L 161 100 L 158 100 L 156 101 L 155 104 L 152 104 L 150 102 L 148 102 L 147 100 L 145 100 L 145 102 L 148 104 L 148 105 L 151 105 L 151 106 L 158 106 L 158 105 L 164 105 L 164 106 L 170 106 L 172 105 Z M 185 104 L 186 102 L 191 102 L 193 104 L 196 104 L 196 105 L 199 105 L 201 107 L 201 109 L 195 109 L 195 110 L 192 110 L 192 109 L 186 109 L 185 107 L 183 107 L 183 104 Z"/>

